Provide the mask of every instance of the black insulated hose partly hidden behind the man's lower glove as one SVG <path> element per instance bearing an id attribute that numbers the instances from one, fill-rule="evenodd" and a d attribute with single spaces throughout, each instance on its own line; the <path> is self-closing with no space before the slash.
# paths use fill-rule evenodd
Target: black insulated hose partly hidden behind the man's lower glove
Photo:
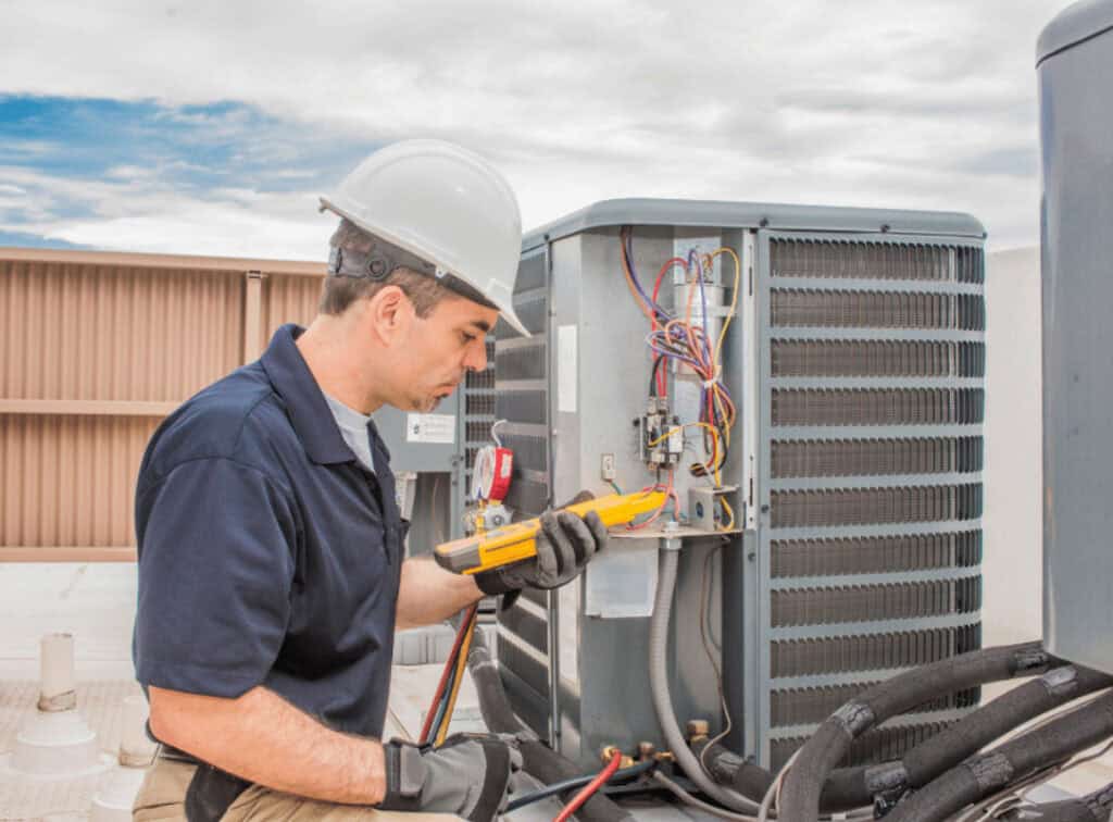
<path id="1" fill-rule="evenodd" d="M 506 698 L 506 691 L 499 674 L 499 664 L 491 658 L 483 633 L 476 630 L 467 654 L 467 671 L 475 683 L 480 698 L 480 714 L 487 730 L 496 734 L 519 736 L 522 770 L 544 784 L 552 784 L 580 776 L 580 770 L 569 760 L 538 740 L 522 738 L 532 734 L 514 715 Z M 577 812 L 580 822 L 633 822 L 627 811 L 611 800 L 595 793 Z"/>

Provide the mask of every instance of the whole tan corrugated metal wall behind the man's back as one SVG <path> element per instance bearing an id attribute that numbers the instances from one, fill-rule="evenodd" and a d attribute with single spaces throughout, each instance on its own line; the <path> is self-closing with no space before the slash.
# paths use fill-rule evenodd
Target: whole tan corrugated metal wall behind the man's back
<path id="1" fill-rule="evenodd" d="M 324 266 L 0 248 L 0 561 L 128 560 L 161 419 L 306 323 Z"/>

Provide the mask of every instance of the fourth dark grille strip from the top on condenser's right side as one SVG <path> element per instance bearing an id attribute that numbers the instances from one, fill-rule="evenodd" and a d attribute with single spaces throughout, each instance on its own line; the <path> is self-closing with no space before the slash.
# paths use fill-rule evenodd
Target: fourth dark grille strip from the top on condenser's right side
<path id="1" fill-rule="evenodd" d="M 982 389 L 774 389 L 774 425 L 947 425 L 982 422 Z"/>

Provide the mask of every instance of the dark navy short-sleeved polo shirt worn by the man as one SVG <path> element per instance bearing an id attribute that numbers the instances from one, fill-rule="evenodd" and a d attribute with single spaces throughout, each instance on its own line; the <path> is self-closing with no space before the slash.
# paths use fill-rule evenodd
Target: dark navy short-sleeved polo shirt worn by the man
<path id="1" fill-rule="evenodd" d="M 210 385 L 155 432 L 139 469 L 145 686 L 236 697 L 263 685 L 339 731 L 386 715 L 406 523 L 390 454 L 344 442 L 294 340 Z"/>

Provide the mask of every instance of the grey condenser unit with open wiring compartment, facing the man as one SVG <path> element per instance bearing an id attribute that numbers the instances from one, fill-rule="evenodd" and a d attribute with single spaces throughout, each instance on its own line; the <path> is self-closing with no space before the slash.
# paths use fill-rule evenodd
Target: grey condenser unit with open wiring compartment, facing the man
<path id="1" fill-rule="evenodd" d="M 503 679 L 543 738 L 585 767 L 603 744 L 662 745 L 662 547 L 671 707 L 712 734 L 729 715 L 726 742 L 769 767 L 865 685 L 979 647 L 983 238 L 959 214 L 649 199 L 524 238 L 532 336 L 502 324 L 495 343 L 508 505 L 676 499 L 579 583 L 501 611 Z M 854 761 L 978 698 L 896 717 Z"/>

